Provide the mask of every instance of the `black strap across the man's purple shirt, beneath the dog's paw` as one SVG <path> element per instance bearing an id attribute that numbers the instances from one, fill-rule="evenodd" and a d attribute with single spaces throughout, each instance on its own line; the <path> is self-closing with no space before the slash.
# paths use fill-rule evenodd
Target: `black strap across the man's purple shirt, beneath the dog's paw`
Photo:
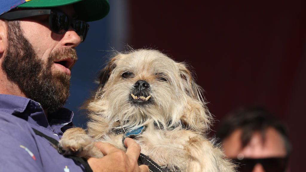
<path id="1" fill-rule="evenodd" d="M 59 143 L 58 143 L 57 140 L 55 140 L 55 139 L 52 138 L 52 137 L 49 137 L 49 136 L 45 135 L 44 133 L 42 133 L 42 132 L 40 132 L 40 131 L 38 131 L 38 130 L 36 130 L 36 129 L 34 129 L 34 128 L 32 128 L 32 129 L 33 129 L 33 131 L 34 131 L 34 133 L 35 133 L 36 135 L 42 136 L 42 137 L 44 137 L 45 139 L 47 139 L 47 140 L 52 144 L 52 146 L 53 146 L 55 149 L 57 149 L 58 152 L 62 155 L 62 150 L 58 149 L 58 144 L 59 144 Z M 64 156 L 64 155 L 63 155 L 63 156 Z M 86 172 L 93 172 L 93 171 L 91 170 L 91 168 L 90 168 L 90 166 L 89 166 L 89 164 L 88 164 L 88 162 L 87 162 L 86 159 L 81 158 L 81 157 L 77 157 L 77 156 L 73 156 L 73 155 L 67 155 L 67 156 L 65 156 L 65 157 L 66 157 L 66 158 L 73 159 L 73 161 L 76 162 L 76 163 L 82 164 L 82 165 L 84 166 Z"/>

